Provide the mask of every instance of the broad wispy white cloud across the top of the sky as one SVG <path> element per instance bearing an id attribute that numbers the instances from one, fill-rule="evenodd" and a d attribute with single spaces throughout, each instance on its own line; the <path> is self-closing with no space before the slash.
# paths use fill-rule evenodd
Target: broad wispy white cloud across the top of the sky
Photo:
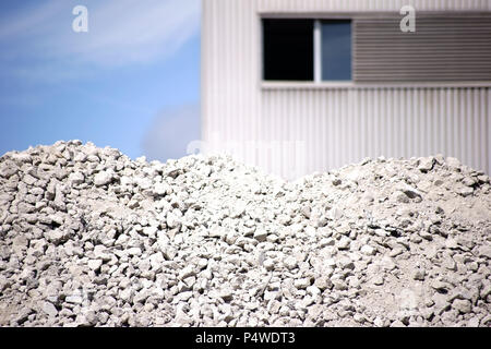
<path id="1" fill-rule="evenodd" d="M 115 67 L 161 60 L 200 29 L 199 0 L 83 1 L 88 33 L 74 33 L 72 9 L 81 1 L 39 1 L 2 19 L 1 57 Z"/>

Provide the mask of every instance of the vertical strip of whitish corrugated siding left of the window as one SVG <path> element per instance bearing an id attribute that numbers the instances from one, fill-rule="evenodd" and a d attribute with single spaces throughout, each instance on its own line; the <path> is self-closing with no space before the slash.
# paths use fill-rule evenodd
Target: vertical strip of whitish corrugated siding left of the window
<path id="1" fill-rule="evenodd" d="M 202 139 L 208 152 L 254 143 L 261 120 L 255 1 L 205 0 L 202 9 Z M 235 153 L 256 159 L 254 145 Z"/>

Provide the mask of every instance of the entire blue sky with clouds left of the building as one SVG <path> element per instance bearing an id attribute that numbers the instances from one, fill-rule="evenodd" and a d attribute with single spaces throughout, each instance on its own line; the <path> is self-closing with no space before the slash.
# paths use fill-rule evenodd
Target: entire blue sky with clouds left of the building
<path id="1" fill-rule="evenodd" d="M 75 33 L 75 5 L 88 32 Z M 200 137 L 200 0 L 0 2 L 0 155 L 58 140 L 135 158 Z"/>

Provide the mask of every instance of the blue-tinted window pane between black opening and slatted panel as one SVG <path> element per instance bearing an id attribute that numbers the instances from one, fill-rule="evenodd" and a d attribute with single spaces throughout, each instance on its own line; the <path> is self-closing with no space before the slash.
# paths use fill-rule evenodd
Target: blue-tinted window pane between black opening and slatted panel
<path id="1" fill-rule="evenodd" d="M 322 80 L 351 80 L 351 21 L 322 21 Z"/>

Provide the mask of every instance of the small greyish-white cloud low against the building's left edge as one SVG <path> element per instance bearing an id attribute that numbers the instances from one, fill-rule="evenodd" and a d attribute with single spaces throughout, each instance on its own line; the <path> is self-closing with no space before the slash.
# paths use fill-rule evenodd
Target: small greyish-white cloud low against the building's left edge
<path id="1" fill-rule="evenodd" d="M 188 155 L 188 144 L 200 139 L 197 105 L 169 108 L 160 112 L 143 137 L 142 147 L 149 160 L 178 159 Z"/>

